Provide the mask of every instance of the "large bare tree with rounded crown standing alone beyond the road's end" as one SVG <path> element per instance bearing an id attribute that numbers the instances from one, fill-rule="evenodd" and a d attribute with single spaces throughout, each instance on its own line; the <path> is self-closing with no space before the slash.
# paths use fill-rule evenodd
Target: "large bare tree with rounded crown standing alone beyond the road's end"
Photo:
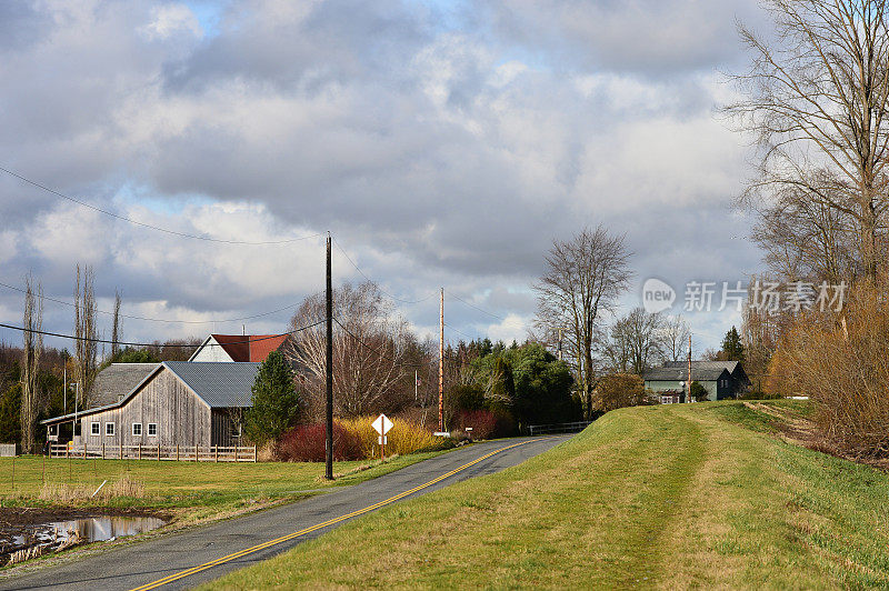
<path id="1" fill-rule="evenodd" d="M 546 257 L 547 270 L 535 286 L 537 324 L 563 328 L 569 363 L 581 392 L 586 417 L 592 411 L 593 331 L 602 312 L 612 311 L 628 287 L 632 272 L 622 236 L 611 236 L 599 226 L 570 240 L 555 240 Z"/>

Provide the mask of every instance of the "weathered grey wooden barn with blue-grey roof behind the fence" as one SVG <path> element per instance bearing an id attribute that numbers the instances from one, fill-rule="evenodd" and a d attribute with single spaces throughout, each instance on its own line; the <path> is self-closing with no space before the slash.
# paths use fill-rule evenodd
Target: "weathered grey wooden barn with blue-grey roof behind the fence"
<path id="1" fill-rule="evenodd" d="M 251 405 L 259 363 L 166 361 L 116 402 L 42 421 L 48 439 L 77 422 L 73 444 L 102 447 L 229 447 Z"/>

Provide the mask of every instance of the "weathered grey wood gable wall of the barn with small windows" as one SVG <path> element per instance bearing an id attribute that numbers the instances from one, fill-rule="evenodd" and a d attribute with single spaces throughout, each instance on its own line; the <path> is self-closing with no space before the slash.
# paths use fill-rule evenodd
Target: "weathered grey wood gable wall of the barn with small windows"
<path id="1" fill-rule="evenodd" d="M 210 407 L 194 395 L 170 370 L 161 368 L 123 407 L 80 419 L 80 442 L 90 448 L 106 445 L 211 445 Z M 91 434 L 91 423 L 99 434 Z M 106 424 L 114 423 L 114 434 L 106 435 Z M 132 424 L 142 424 L 142 434 L 132 434 Z M 158 434 L 148 434 L 148 424 Z"/>

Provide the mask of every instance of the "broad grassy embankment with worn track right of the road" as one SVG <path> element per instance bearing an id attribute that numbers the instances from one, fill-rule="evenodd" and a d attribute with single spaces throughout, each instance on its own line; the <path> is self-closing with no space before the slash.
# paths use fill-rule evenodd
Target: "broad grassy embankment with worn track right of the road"
<path id="1" fill-rule="evenodd" d="M 889 477 L 772 421 L 737 402 L 611 412 L 209 587 L 889 588 Z"/>

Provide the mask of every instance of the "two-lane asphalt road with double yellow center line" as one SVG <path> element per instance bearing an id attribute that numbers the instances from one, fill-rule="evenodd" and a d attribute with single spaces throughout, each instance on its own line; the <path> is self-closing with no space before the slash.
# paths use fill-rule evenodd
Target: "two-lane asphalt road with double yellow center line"
<path id="1" fill-rule="evenodd" d="M 186 589 L 266 560 L 337 524 L 453 482 L 499 472 L 566 435 L 483 442 L 391 474 L 229 521 L 2 578 L 0 590 Z"/>

